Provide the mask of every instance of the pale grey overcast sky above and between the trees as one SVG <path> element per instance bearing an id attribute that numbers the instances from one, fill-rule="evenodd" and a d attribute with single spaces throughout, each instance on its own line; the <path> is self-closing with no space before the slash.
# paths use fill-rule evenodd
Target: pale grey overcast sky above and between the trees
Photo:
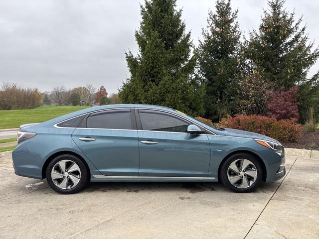
<path id="1" fill-rule="evenodd" d="M 137 52 L 134 31 L 143 0 L 0 0 L 0 82 L 40 91 L 104 85 L 116 93 L 129 74 L 125 50 Z M 195 45 L 214 0 L 177 0 Z M 257 28 L 267 0 L 232 0 L 242 31 Z M 304 15 L 310 39 L 319 45 L 317 0 L 287 0 Z M 319 70 L 319 62 L 311 74 Z"/>

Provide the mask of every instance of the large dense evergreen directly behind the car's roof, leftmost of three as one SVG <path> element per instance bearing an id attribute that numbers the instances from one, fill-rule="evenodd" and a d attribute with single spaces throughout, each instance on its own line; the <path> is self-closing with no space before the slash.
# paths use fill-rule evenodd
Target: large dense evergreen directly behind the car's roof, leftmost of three
<path id="1" fill-rule="evenodd" d="M 153 104 L 203 114 L 204 89 L 194 74 L 190 32 L 176 0 L 145 0 L 135 32 L 139 53 L 126 52 L 130 77 L 119 91 L 123 103 Z"/>

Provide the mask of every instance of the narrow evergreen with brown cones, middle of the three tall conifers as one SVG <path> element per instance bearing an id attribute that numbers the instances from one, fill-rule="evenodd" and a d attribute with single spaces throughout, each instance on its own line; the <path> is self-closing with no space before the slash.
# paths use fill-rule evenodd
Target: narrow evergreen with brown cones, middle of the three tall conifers
<path id="1" fill-rule="evenodd" d="M 217 120 L 237 108 L 236 89 L 241 71 L 238 10 L 230 0 L 217 0 L 216 12 L 209 11 L 207 29 L 197 50 L 199 73 L 206 83 L 205 116 Z"/>

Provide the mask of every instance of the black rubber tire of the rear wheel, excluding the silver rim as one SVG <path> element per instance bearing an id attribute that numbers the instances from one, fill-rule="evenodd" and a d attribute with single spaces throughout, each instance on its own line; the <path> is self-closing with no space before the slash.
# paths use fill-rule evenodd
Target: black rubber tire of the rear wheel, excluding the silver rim
<path id="1" fill-rule="evenodd" d="M 59 188 L 52 180 L 52 177 L 51 177 L 52 169 L 53 169 L 54 165 L 61 160 L 73 161 L 79 166 L 79 168 L 81 170 L 80 180 L 77 183 L 77 185 L 74 186 L 73 188 L 70 188 L 70 189 Z M 46 168 L 46 180 L 47 180 L 48 184 L 50 185 L 50 187 L 54 191 L 56 191 L 60 194 L 72 194 L 72 193 L 77 193 L 80 190 L 82 190 L 87 185 L 87 183 L 89 181 L 88 175 L 89 174 L 88 174 L 88 171 L 87 171 L 87 168 L 86 168 L 84 162 L 81 159 L 79 159 L 78 157 L 71 155 L 71 154 L 62 154 L 62 155 L 55 157 L 54 159 L 51 160 L 48 167 Z M 71 175 L 70 175 L 70 177 L 71 177 Z"/>

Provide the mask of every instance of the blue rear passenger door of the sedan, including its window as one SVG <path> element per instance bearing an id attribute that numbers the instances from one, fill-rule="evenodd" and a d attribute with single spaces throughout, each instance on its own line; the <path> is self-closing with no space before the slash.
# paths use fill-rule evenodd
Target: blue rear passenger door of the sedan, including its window
<path id="1" fill-rule="evenodd" d="M 74 142 L 104 175 L 139 175 L 139 141 L 131 111 L 91 113 L 72 133 Z"/>

